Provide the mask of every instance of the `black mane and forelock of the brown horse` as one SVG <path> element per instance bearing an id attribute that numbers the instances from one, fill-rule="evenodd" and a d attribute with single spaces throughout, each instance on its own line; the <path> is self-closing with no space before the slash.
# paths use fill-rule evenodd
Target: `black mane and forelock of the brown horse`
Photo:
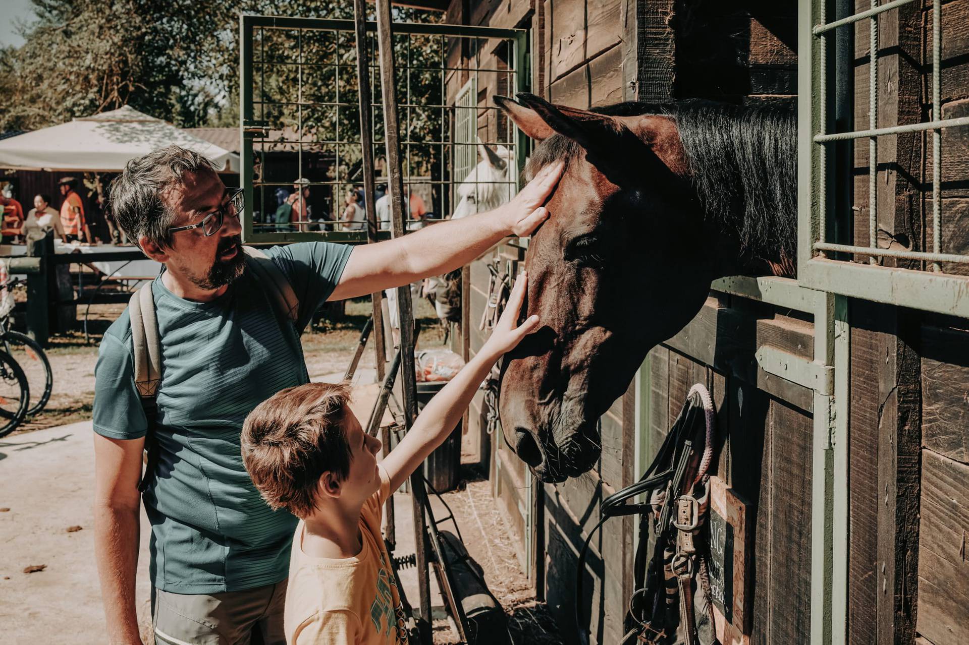
<path id="1" fill-rule="evenodd" d="M 794 266 L 797 257 L 797 120 L 793 105 L 741 107 L 709 101 L 597 107 L 612 116 L 662 114 L 679 130 L 690 183 L 705 216 L 740 240 L 741 258 Z M 545 139 L 533 169 L 571 159 L 578 143 Z"/>

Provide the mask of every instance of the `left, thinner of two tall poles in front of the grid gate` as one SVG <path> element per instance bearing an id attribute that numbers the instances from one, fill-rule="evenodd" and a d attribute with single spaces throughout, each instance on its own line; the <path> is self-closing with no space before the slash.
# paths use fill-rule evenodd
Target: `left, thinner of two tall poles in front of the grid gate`
<path id="1" fill-rule="evenodd" d="M 357 30 L 357 85 L 359 90 L 360 145 L 363 151 L 363 194 L 366 207 L 366 241 L 377 241 L 377 203 L 374 186 L 373 127 L 371 110 L 373 97 L 370 90 L 370 52 L 367 49 L 366 5 L 365 0 L 354 0 L 354 26 Z M 339 70 L 337 70 L 339 73 Z M 377 380 L 383 381 L 386 371 L 387 353 L 384 348 L 384 313 L 380 306 L 383 294 L 370 294 L 373 308 L 374 360 L 377 363 Z"/>

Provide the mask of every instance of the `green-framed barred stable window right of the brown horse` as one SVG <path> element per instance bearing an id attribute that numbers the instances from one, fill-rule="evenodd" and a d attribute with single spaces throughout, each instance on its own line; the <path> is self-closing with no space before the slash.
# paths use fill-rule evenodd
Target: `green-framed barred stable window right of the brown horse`
<path id="1" fill-rule="evenodd" d="M 969 234 L 944 194 L 966 177 L 943 175 L 969 116 L 942 92 L 964 65 L 943 41 L 942 2 L 854 8 L 813 0 L 798 16 L 798 282 L 969 317 Z"/>

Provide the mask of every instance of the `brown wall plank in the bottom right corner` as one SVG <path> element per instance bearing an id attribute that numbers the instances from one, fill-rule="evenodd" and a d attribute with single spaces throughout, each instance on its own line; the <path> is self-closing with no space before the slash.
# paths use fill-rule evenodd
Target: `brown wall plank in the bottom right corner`
<path id="1" fill-rule="evenodd" d="M 934 645 L 969 642 L 969 466 L 922 450 L 917 629 Z"/>

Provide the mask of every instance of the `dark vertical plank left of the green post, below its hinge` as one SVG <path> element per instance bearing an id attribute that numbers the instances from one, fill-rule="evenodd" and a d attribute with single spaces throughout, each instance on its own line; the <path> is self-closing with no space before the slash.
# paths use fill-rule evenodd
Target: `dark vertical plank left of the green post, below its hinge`
<path id="1" fill-rule="evenodd" d="M 813 421 L 771 401 L 769 432 L 770 642 L 797 643 L 811 621 L 811 532 L 804 523 L 811 516 Z"/>

